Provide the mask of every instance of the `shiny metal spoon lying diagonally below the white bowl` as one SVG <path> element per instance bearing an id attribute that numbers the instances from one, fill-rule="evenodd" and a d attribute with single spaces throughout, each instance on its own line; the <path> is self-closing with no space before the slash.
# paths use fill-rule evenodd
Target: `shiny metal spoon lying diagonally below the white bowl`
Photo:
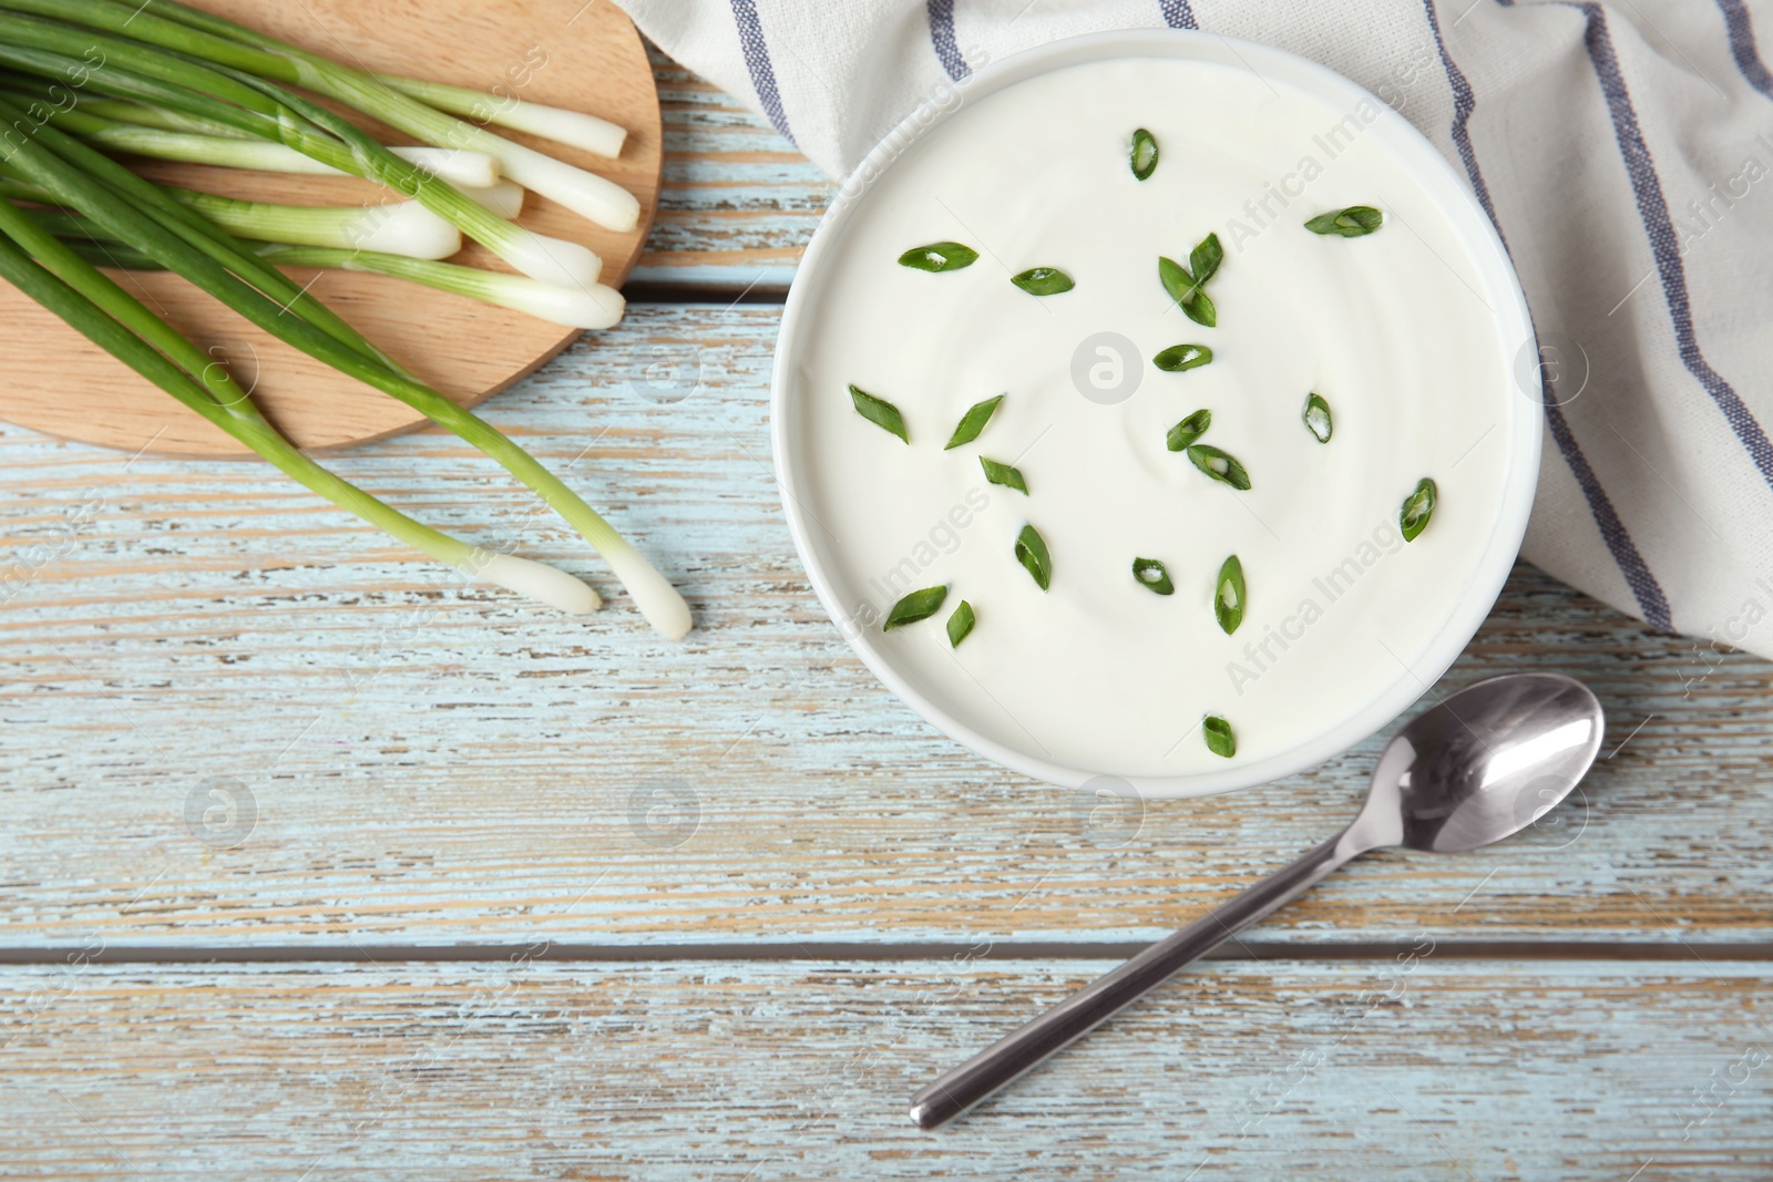
<path id="1" fill-rule="evenodd" d="M 1605 723 L 1589 688 L 1557 673 L 1493 677 L 1424 711 L 1385 744 L 1355 824 L 936 1079 L 911 1120 L 965 1113 L 1356 854 L 1461 852 L 1525 829 L 1589 771 Z"/>

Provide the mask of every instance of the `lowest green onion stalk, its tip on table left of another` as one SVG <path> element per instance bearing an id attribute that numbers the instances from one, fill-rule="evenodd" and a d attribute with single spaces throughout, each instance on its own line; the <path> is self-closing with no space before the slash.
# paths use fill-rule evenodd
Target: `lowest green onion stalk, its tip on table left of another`
<path id="1" fill-rule="evenodd" d="M 413 549 L 562 611 L 598 610 L 598 592 L 566 571 L 470 546 L 316 464 L 266 422 L 225 367 L 11 202 L 0 202 L 0 276 L 285 475 Z"/>

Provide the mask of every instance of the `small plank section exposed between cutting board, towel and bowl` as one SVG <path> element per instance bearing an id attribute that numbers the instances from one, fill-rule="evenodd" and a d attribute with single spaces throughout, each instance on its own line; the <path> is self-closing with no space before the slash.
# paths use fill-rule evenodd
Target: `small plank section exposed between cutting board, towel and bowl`
<path id="1" fill-rule="evenodd" d="M 766 121 L 658 50 L 652 76 L 665 183 L 629 287 L 785 292 L 837 184 Z"/>

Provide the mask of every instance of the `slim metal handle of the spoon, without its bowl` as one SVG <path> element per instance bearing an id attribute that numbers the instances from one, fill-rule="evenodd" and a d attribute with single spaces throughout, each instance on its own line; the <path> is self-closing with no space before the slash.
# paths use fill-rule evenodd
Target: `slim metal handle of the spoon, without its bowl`
<path id="1" fill-rule="evenodd" d="M 1360 852 L 1337 835 L 1236 898 L 1160 939 L 1121 968 L 1071 994 L 1046 1014 L 1005 1035 L 911 1097 L 911 1120 L 934 1129 L 1041 1063 L 1165 978 L 1230 939 L 1239 929 L 1287 902 Z"/>

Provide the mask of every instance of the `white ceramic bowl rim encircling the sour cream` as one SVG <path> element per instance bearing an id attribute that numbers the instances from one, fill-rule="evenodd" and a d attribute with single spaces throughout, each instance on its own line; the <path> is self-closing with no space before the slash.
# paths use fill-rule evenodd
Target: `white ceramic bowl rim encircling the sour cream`
<path id="1" fill-rule="evenodd" d="M 807 502 L 810 482 L 807 478 L 807 432 L 803 431 L 805 416 L 801 411 L 810 395 L 800 386 L 800 362 L 807 351 L 805 342 L 808 333 L 816 331 L 816 310 L 821 301 L 828 261 L 839 253 L 835 243 L 844 236 L 846 223 L 865 206 L 869 181 L 892 168 L 894 161 L 918 136 L 931 128 L 941 126 L 968 105 L 1027 78 L 1083 62 L 1154 57 L 1241 66 L 1257 71 L 1264 78 L 1284 80 L 1340 110 L 1351 110 L 1362 101 L 1372 103 L 1378 108 L 1378 119 L 1367 128 L 1365 136 L 1379 142 L 1410 167 L 1418 183 L 1438 202 L 1441 213 L 1475 261 L 1486 291 L 1502 296 L 1495 307 L 1498 340 L 1532 342 L 1534 338 L 1527 301 L 1521 296 L 1519 282 L 1509 264 L 1507 252 L 1482 207 L 1466 188 L 1464 179 L 1445 161 L 1433 144 L 1385 103 L 1347 78 L 1293 53 L 1179 30 L 1129 30 L 1071 37 L 1018 53 L 977 71 L 957 90 L 926 103 L 899 124 L 863 159 L 856 174 L 844 184 L 837 200 L 832 202 L 824 220 L 819 223 L 819 230 L 807 246 L 787 298 L 787 308 L 782 315 L 782 333 L 777 344 L 771 392 L 771 432 L 777 477 L 784 493 L 782 503 L 787 512 L 789 530 L 794 535 L 794 546 L 807 567 L 814 590 L 819 594 L 819 601 L 874 675 L 924 719 L 957 743 L 1005 767 L 1064 787 L 1082 787 L 1097 780 L 1097 771 L 1067 767 L 1030 750 L 980 734 L 943 709 L 934 700 L 936 695 L 926 693 L 924 688 L 915 684 L 913 677 L 908 677 L 894 665 L 888 649 L 879 643 L 881 634 L 878 629 L 856 627 L 847 615 L 840 588 L 832 574 L 832 556 L 826 553 L 826 548 L 833 542 L 823 530 L 810 528 L 812 523 L 808 519 L 810 514 L 816 514 L 816 507 L 810 507 Z M 1534 354 L 1528 356 L 1532 358 Z M 1312 734 L 1278 755 L 1252 762 L 1232 762 L 1223 769 L 1199 774 L 1117 780 L 1129 783 L 1145 796 L 1202 796 L 1266 783 L 1312 767 L 1360 743 L 1408 709 L 1424 693 L 1425 686 L 1434 684 L 1477 633 L 1502 590 L 1502 583 L 1519 551 L 1521 537 L 1527 532 L 1527 517 L 1532 510 L 1534 489 L 1537 486 L 1544 415 L 1539 404 L 1537 367 L 1519 367 L 1514 356 L 1507 356 L 1502 358 L 1502 369 L 1516 374 L 1523 388 L 1519 397 L 1511 399 L 1512 413 L 1504 424 L 1507 477 L 1491 517 L 1493 530 L 1477 562 L 1477 576 L 1459 592 L 1449 622 L 1434 636 L 1433 643 L 1425 647 L 1422 656 L 1410 668 L 1399 666 L 1397 679 L 1383 693 L 1374 695 L 1367 702 L 1351 704 L 1335 727 L 1321 734 Z M 1324 686 L 1324 693 L 1335 693 L 1335 688 Z"/>

